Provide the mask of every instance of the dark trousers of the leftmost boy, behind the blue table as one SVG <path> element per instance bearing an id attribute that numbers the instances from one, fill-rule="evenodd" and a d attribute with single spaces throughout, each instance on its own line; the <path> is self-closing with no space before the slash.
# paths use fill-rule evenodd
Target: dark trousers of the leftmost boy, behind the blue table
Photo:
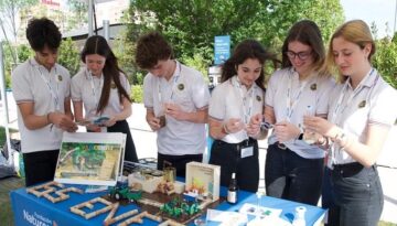
<path id="1" fill-rule="evenodd" d="M 53 181 L 60 150 L 23 153 L 25 186 Z"/>

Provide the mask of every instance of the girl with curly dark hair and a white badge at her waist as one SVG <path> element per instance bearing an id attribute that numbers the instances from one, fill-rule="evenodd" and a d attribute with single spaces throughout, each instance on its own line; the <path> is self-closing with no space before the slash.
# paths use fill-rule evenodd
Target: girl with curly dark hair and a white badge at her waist
<path id="1" fill-rule="evenodd" d="M 208 115 L 214 142 L 210 163 L 221 165 L 224 186 L 229 184 L 232 173 L 236 173 L 239 189 L 258 190 L 257 139 L 265 136 L 250 121 L 260 122 L 262 118 L 266 61 L 276 58 L 259 42 L 243 41 L 222 66 L 222 84 L 212 93 Z"/>

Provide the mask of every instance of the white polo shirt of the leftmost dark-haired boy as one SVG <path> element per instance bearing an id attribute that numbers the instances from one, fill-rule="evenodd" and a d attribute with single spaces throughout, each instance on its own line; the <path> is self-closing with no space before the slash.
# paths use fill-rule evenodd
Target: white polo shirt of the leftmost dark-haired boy
<path id="1" fill-rule="evenodd" d="M 30 58 L 12 72 L 11 80 L 17 104 L 33 103 L 33 115 L 43 116 L 55 110 L 65 111 L 65 98 L 71 96 L 71 75 L 60 64 L 55 64 L 49 72 L 34 58 Z M 24 126 L 19 109 L 18 126 L 23 153 L 60 149 L 63 131 L 55 126 L 47 125 L 30 130 Z"/>

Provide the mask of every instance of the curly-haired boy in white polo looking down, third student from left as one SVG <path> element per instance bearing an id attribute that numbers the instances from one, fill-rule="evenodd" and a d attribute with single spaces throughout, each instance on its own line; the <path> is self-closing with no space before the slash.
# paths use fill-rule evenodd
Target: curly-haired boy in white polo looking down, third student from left
<path id="1" fill-rule="evenodd" d="M 158 32 L 142 35 L 136 62 L 148 71 L 143 80 L 147 121 L 158 134 L 158 169 L 167 161 L 185 175 L 185 164 L 201 162 L 206 146 L 210 92 L 203 75 L 172 58 L 172 49 Z"/>

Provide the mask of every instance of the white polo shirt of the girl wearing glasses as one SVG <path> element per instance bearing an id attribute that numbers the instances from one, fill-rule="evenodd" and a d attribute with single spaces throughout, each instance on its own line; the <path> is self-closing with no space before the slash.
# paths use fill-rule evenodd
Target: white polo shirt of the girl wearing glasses
<path id="1" fill-rule="evenodd" d="M 288 89 L 291 83 L 290 100 L 297 101 L 292 107 L 289 121 L 303 128 L 303 116 L 311 107 L 314 115 L 326 115 L 329 111 L 330 92 L 335 87 L 332 77 L 310 76 L 299 80 L 299 74 L 292 68 L 283 68 L 275 72 L 269 80 L 266 92 L 265 104 L 275 110 L 276 122 L 288 119 L 287 99 Z M 292 105 L 293 106 L 293 105 Z M 277 141 L 276 134 L 269 137 L 269 144 Z M 283 142 L 291 151 L 305 159 L 324 158 L 325 152 L 316 146 L 310 146 L 303 140 L 291 139 Z"/>

